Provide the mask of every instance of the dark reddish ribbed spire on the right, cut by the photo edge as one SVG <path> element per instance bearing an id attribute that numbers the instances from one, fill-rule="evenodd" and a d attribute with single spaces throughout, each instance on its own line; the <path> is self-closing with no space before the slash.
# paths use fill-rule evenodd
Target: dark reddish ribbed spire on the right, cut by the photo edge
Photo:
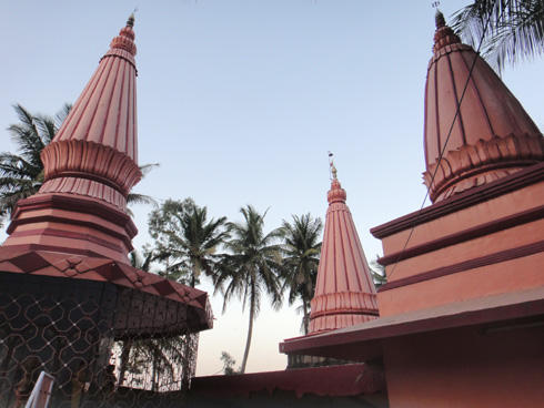
<path id="1" fill-rule="evenodd" d="M 461 43 L 440 12 L 433 53 L 425 86 L 423 173 L 433 202 L 544 160 L 537 126 L 487 63 L 471 47 Z"/>

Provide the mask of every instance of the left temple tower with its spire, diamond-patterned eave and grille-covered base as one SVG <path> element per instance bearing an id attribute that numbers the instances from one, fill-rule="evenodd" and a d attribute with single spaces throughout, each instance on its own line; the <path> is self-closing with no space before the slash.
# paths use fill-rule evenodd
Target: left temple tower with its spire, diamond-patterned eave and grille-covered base
<path id="1" fill-rule="evenodd" d="M 127 196 L 141 177 L 133 24 L 43 150 L 44 183 L 18 203 L 0 247 L 0 408 L 24 406 L 41 370 L 56 379 L 53 407 L 140 407 L 159 390 L 178 407 L 194 334 L 213 325 L 204 292 L 129 263 Z M 140 374 L 137 348 L 148 350 Z"/>

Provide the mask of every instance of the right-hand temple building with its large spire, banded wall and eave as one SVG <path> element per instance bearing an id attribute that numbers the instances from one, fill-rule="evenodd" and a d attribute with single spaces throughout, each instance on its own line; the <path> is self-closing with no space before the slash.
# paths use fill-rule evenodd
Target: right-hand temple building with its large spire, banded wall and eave
<path id="1" fill-rule="evenodd" d="M 434 41 L 424 128 L 433 205 L 372 230 L 387 276 L 380 317 L 280 349 L 382 360 L 391 407 L 536 407 L 544 398 L 542 133 L 440 12 Z"/>

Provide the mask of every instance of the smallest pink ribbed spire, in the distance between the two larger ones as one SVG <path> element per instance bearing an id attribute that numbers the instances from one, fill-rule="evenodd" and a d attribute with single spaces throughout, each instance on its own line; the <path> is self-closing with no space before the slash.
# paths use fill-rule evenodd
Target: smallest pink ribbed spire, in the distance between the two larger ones
<path id="1" fill-rule="evenodd" d="M 311 334 L 353 326 L 379 316 L 371 271 L 334 167 L 333 175 L 311 303 Z"/>

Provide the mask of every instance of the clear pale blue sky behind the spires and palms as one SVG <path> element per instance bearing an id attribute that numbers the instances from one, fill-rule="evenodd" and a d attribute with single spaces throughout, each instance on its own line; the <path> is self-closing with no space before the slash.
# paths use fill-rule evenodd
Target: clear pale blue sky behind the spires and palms
<path id="1" fill-rule="evenodd" d="M 440 9 L 449 21 L 467 3 Z M 11 105 L 54 114 L 75 102 L 135 7 L 139 163 L 160 167 L 134 191 L 159 202 L 192 197 L 234 222 L 251 204 L 268 211 L 271 231 L 292 214 L 324 218 L 331 151 L 366 258 L 381 255 L 370 228 L 425 197 L 432 1 L 0 0 L 0 151 L 14 150 L 4 130 L 17 123 Z M 541 129 L 542 72 L 541 59 L 503 74 Z M 137 248 L 152 243 L 151 210 L 132 208 Z M 222 314 L 221 294 L 205 279 L 201 288 L 215 314 L 200 337 L 204 376 L 221 371 L 223 350 L 241 363 L 249 316 L 240 303 Z M 275 312 L 263 300 L 249 373 L 284 369 L 278 344 L 300 336 L 295 307 Z"/>

